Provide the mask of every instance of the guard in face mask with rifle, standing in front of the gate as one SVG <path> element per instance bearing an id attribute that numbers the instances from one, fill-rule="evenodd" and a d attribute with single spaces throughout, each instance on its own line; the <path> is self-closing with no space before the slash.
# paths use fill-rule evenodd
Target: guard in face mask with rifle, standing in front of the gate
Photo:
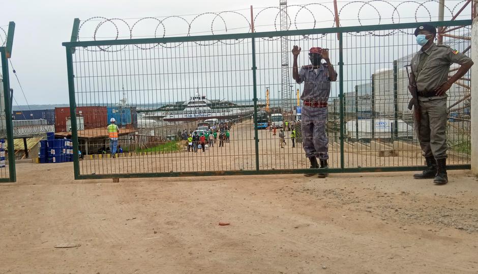
<path id="1" fill-rule="evenodd" d="M 416 92 L 419 109 L 419 132 L 417 137 L 423 155 L 427 160 L 427 169 L 415 174 L 416 179 L 435 178 L 437 184 L 448 182 L 446 174 L 446 122 L 448 107 L 446 91 L 461 78 L 473 65 L 465 54 L 447 45 L 434 43 L 436 29 L 431 25 L 422 25 L 415 30 L 416 42 L 422 46 L 411 60 L 409 88 Z M 462 65 L 449 79 L 450 65 Z"/>

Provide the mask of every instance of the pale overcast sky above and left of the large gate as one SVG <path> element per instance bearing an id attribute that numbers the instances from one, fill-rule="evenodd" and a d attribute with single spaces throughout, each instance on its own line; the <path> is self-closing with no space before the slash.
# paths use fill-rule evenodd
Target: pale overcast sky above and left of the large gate
<path id="1" fill-rule="evenodd" d="M 255 7 L 268 7 L 278 6 L 279 0 L 261 0 L 254 1 Z M 289 1 L 289 5 L 312 3 L 314 1 Z M 260 4 L 259 4 L 260 3 Z M 315 2 L 320 3 L 320 2 Z M 398 2 L 399 3 L 399 2 Z M 447 1 L 447 4 L 451 9 L 455 6 L 457 1 Z M 141 17 L 165 17 L 171 15 L 184 15 L 184 14 L 198 14 L 203 12 L 217 12 L 217 11 L 230 11 L 248 9 L 250 4 L 243 1 L 229 1 L 229 0 L 202 0 L 202 1 L 163 1 L 163 0 L 82 0 L 82 1 L 67 1 L 67 0 L 0 0 L 0 7 L 2 7 L 2 17 L 0 17 L 0 26 L 5 26 L 9 21 L 15 21 L 15 38 L 13 43 L 13 53 L 11 61 L 15 67 L 20 83 L 27 97 L 29 104 L 55 104 L 55 103 L 68 103 L 68 85 L 66 74 L 66 58 L 65 48 L 62 46 L 62 42 L 68 41 L 71 35 L 71 29 L 73 19 L 75 17 L 80 20 L 85 20 L 94 16 L 102 16 L 106 18 L 141 18 Z M 325 4 L 328 7 L 333 7 L 331 4 Z M 344 3 L 339 5 L 345 5 Z M 360 4 L 362 5 L 362 4 Z M 357 9 L 359 6 L 349 6 L 350 9 L 344 10 L 343 18 L 356 18 Z M 386 3 L 383 4 L 383 9 L 387 10 L 386 14 L 382 15 L 382 18 L 390 18 L 390 11 L 393 8 L 386 7 Z M 396 4 L 398 5 L 398 4 Z M 433 6 L 434 3 L 432 3 Z M 320 8 L 320 12 L 317 10 Z M 369 10 L 367 10 L 369 8 Z M 401 16 L 412 18 L 414 16 L 413 7 L 407 7 L 402 5 L 400 7 Z M 312 8 L 311 8 L 312 9 Z M 380 9 L 380 7 L 378 7 Z M 407 11 L 407 9 L 409 9 Z M 295 9 L 297 10 L 297 9 Z M 434 13 L 433 9 L 431 10 Z M 249 17 L 249 12 L 240 11 Z M 424 13 L 425 10 L 421 10 L 419 14 Z M 273 11 L 270 15 L 263 16 L 261 20 L 256 22 L 256 25 L 271 24 L 274 20 L 274 15 L 277 11 Z M 310 14 L 306 14 L 307 11 L 303 10 L 301 14 L 306 21 L 312 21 Z M 333 18 L 330 12 L 316 5 L 313 12 L 317 21 L 324 21 L 318 23 L 316 28 L 330 27 L 331 19 Z M 445 12 L 445 15 L 449 12 Z M 469 14 L 469 13 L 468 13 Z M 307 16 L 306 16 L 307 15 Z M 427 14 L 425 14 L 427 15 Z M 436 12 L 433 16 L 436 15 Z M 244 22 L 241 22 L 241 17 L 235 15 L 235 19 L 230 17 L 227 23 L 230 29 L 229 33 L 247 32 L 247 29 L 231 30 L 238 26 L 243 26 Z M 295 13 L 294 13 L 295 16 Z M 370 18 L 377 17 L 377 11 L 374 11 L 370 7 L 365 7 L 361 12 L 361 18 L 364 18 L 364 24 L 375 24 L 377 20 L 367 21 L 367 16 Z M 195 16 L 186 16 L 188 20 L 192 20 Z M 207 16 L 198 18 L 193 25 L 191 32 L 202 32 L 211 30 L 211 19 L 214 16 Z M 300 17 L 300 16 L 299 16 Z M 425 16 L 426 17 L 426 16 Z M 292 18 L 293 19 L 293 18 Z M 433 18 L 434 19 L 434 18 Z M 130 26 L 137 19 L 127 20 Z M 427 21 L 428 18 L 424 19 Z M 149 28 L 148 30 L 141 30 L 138 24 L 135 29 L 138 36 L 152 33 L 154 34 L 154 20 L 150 20 L 149 24 L 145 23 L 142 28 Z M 219 21 L 219 20 L 218 20 Z M 402 19 L 401 22 L 410 22 L 414 19 Z M 95 24 L 84 25 L 80 32 L 82 40 L 92 40 L 93 30 Z M 179 22 L 179 23 L 177 23 Z M 346 22 L 344 20 L 344 22 Z M 386 21 L 383 19 L 381 23 L 390 23 L 391 20 Z M 222 29 L 219 22 L 215 22 L 214 29 Z M 352 24 L 350 21 L 348 25 Z M 181 25 L 180 21 L 170 21 L 170 24 L 166 24 L 166 33 L 169 35 L 185 35 L 187 33 L 187 24 Z M 120 29 L 122 26 L 118 24 Z M 153 28 L 153 29 L 152 29 Z M 258 31 L 272 30 L 273 26 L 269 26 L 270 29 L 262 28 Z M 312 28 L 312 25 L 304 23 L 298 24 L 298 28 L 307 29 Z M 4 27 L 4 29 L 6 29 Z M 294 29 L 294 27 L 293 27 Z M 162 32 L 159 29 L 159 32 Z M 220 33 L 220 32 L 218 32 Z M 224 32 L 222 32 L 224 33 Z M 200 33 L 200 34 L 210 34 Z M 98 37 L 110 37 L 115 35 L 115 30 L 112 26 L 107 24 L 102 26 L 101 31 L 98 31 Z M 2 34 L 0 34 L 0 37 Z M 120 34 L 122 36 L 122 34 Z M 87 37 L 90 37 L 89 39 Z M 21 95 L 20 88 L 17 80 L 12 72 L 10 72 L 11 87 L 15 90 L 15 98 L 18 104 L 25 104 L 25 99 Z M 14 103 L 15 104 L 15 103 Z"/>

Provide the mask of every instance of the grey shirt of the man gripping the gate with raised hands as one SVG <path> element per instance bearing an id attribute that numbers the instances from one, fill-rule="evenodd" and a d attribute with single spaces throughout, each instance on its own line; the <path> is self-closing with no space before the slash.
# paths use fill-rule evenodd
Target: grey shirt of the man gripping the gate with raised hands
<path id="1" fill-rule="evenodd" d="M 335 74 L 337 75 L 337 72 Z M 301 100 L 328 101 L 331 93 L 331 80 L 328 76 L 326 64 L 321 64 L 317 70 L 314 70 L 312 65 L 303 66 L 299 71 L 299 84 L 305 83 Z"/>

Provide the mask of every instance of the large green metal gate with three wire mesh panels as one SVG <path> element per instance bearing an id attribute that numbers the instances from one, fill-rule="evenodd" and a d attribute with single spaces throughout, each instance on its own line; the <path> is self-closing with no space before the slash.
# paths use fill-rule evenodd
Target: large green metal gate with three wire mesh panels
<path id="1" fill-rule="evenodd" d="M 427 23 L 457 26 L 443 42 L 469 54 L 471 20 Z M 293 45 L 302 47 L 299 66 L 309 64 L 308 48 L 330 49 L 339 74 L 327 106 L 328 172 L 420 170 L 424 159 L 406 109 L 405 65 L 419 49 L 412 33 L 421 24 L 77 41 L 81 25 L 75 19 L 71 41 L 63 43 L 71 132 L 61 133 L 73 139 L 75 178 L 306 172 L 302 142 L 292 148 L 290 138 L 293 125 L 294 141 L 301 141 L 295 120 L 303 86 L 290 76 L 290 99 L 279 98 L 282 69 L 292 70 Z M 284 39 L 290 53 L 285 64 Z M 450 169 L 470 168 L 469 80 L 465 75 L 448 92 Z M 119 117 L 123 152 L 115 158 L 108 151 L 110 117 Z M 201 127 L 205 120 L 210 125 Z M 283 148 L 279 128 L 276 134 L 272 127 L 260 129 L 280 122 Z M 188 151 L 188 134 L 206 137 L 214 127 L 219 136 L 208 137 L 212 143 L 204 152 L 203 146 Z M 225 128 L 221 142 L 219 129 Z"/>

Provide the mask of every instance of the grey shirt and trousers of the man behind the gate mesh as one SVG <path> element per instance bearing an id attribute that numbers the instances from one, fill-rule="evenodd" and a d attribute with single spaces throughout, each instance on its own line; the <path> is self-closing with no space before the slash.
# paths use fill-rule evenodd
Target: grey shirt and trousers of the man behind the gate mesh
<path id="1" fill-rule="evenodd" d="M 336 72 L 337 75 L 337 72 Z M 304 102 L 328 101 L 331 92 L 331 80 L 326 64 L 317 70 L 311 65 L 303 66 L 299 72 L 300 84 L 305 83 L 301 100 Z M 302 107 L 302 138 L 306 156 L 315 156 L 321 160 L 328 159 L 328 138 L 325 132 L 327 107 Z"/>

